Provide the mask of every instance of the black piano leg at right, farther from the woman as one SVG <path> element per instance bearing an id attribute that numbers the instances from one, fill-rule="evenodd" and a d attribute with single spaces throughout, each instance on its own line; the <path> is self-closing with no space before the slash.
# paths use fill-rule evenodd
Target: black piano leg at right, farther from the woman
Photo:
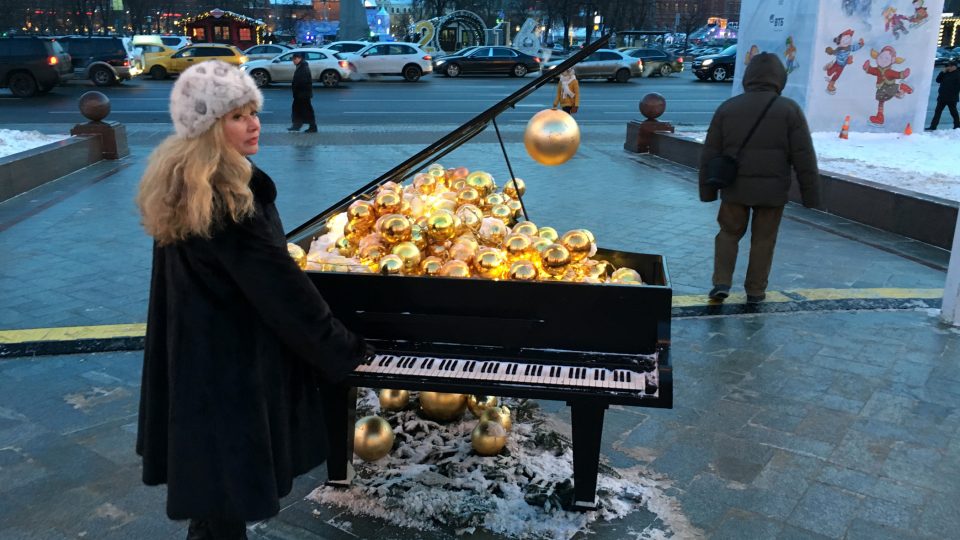
<path id="1" fill-rule="evenodd" d="M 603 435 L 603 403 L 571 402 L 573 428 L 573 510 L 597 508 L 597 471 Z"/>

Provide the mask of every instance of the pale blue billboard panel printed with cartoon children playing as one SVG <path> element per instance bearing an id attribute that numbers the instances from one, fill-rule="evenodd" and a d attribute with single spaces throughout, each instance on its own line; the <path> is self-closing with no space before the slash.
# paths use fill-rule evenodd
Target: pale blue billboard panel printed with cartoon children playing
<path id="1" fill-rule="evenodd" d="M 783 95 L 813 131 L 902 132 L 927 113 L 943 0 L 743 0 L 733 93 L 759 52 L 787 68 Z"/>

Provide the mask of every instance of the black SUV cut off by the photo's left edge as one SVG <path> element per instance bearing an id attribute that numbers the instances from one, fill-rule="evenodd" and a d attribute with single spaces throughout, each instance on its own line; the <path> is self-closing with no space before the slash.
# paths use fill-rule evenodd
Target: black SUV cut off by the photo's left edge
<path id="1" fill-rule="evenodd" d="M 0 88 L 17 97 L 44 94 L 73 77 L 70 55 L 49 38 L 0 38 Z"/>

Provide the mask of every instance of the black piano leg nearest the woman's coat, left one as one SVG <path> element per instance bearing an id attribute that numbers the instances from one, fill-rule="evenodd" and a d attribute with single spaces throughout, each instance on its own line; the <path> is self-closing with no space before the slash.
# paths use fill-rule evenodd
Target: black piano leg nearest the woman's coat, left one
<path id="1" fill-rule="evenodd" d="M 346 385 L 324 387 L 324 416 L 330 453 L 327 485 L 347 487 L 353 480 L 353 429 L 357 418 L 357 389 Z"/>

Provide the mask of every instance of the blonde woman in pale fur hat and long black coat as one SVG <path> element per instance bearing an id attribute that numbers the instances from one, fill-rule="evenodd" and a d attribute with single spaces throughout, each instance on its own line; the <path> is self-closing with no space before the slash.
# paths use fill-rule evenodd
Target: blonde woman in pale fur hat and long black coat
<path id="1" fill-rule="evenodd" d="M 233 66 L 184 71 L 137 196 L 155 240 L 137 453 L 188 539 L 279 512 L 327 455 L 325 385 L 366 353 L 287 254 L 276 186 L 248 160 L 262 103 Z"/>

